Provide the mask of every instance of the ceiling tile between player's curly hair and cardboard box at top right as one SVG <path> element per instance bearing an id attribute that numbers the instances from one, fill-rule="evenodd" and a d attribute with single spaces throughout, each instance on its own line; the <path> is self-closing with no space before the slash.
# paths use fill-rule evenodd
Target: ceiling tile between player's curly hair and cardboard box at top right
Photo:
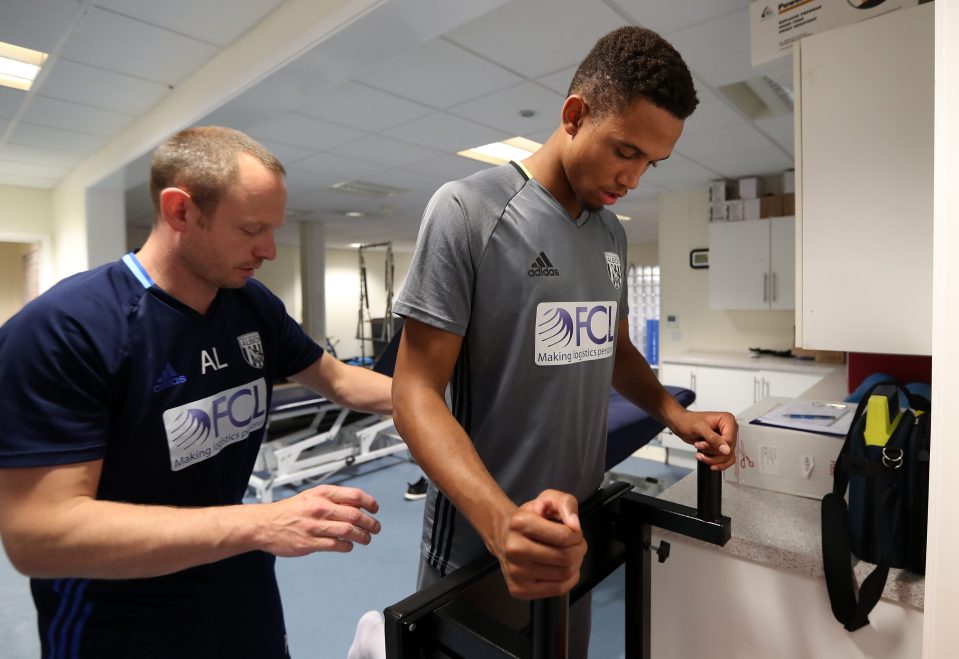
<path id="1" fill-rule="evenodd" d="M 669 35 L 690 71 L 716 88 L 756 75 L 749 56 L 749 14 L 727 14 Z"/>

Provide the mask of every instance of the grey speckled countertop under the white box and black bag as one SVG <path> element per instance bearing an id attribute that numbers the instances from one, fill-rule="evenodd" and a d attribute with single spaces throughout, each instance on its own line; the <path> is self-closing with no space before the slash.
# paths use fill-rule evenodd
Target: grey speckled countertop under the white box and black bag
<path id="1" fill-rule="evenodd" d="M 661 499 L 696 507 L 696 472 L 659 495 Z M 732 520 L 732 537 L 723 547 L 663 530 L 668 540 L 698 543 L 717 552 L 779 570 L 823 579 L 820 502 L 815 499 L 723 483 L 723 514 Z M 856 580 L 862 580 L 873 565 L 857 561 Z M 883 599 L 922 610 L 925 581 L 922 576 L 891 569 Z"/>

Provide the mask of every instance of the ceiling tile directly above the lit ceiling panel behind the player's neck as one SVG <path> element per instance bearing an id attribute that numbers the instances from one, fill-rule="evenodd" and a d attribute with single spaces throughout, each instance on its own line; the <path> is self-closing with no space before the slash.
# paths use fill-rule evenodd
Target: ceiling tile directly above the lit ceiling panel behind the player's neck
<path id="1" fill-rule="evenodd" d="M 498 128 L 512 136 L 526 136 L 540 130 L 555 129 L 565 98 L 536 83 L 524 82 L 454 105 L 447 111 Z M 520 110 L 532 110 L 536 114 L 521 117 Z"/>

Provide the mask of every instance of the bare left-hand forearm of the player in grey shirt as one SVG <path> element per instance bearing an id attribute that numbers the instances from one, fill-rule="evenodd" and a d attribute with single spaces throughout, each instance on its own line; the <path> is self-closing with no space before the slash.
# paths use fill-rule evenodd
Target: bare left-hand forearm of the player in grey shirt
<path id="1" fill-rule="evenodd" d="M 516 505 L 490 475 L 445 401 L 428 387 L 394 389 L 393 420 L 417 463 L 495 553 Z"/>

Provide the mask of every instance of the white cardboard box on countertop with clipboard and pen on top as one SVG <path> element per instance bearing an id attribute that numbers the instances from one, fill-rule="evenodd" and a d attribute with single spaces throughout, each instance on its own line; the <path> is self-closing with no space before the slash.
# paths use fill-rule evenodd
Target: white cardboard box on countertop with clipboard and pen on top
<path id="1" fill-rule="evenodd" d="M 833 471 L 845 437 L 750 423 L 790 400 L 767 398 L 736 415 L 736 464 L 723 472 L 723 480 L 811 499 L 821 499 L 832 491 Z"/>

